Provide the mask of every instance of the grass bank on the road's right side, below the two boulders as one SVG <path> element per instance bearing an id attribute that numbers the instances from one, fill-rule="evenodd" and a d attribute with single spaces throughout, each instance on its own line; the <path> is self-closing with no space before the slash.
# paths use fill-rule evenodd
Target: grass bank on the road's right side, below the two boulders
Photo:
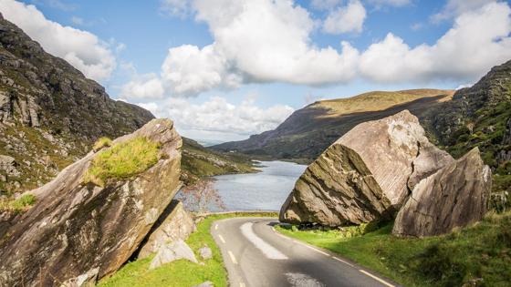
<path id="1" fill-rule="evenodd" d="M 392 224 L 364 235 L 345 231 L 297 231 L 287 236 L 334 251 L 405 286 L 509 286 L 511 212 L 491 213 L 473 226 L 443 236 L 402 239 Z"/>

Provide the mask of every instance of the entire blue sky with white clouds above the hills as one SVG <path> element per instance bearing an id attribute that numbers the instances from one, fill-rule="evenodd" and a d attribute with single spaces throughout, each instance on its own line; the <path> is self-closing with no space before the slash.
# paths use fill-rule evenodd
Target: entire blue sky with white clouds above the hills
<path id="1" fill-rule="evenodd" d="M 458 88 L 511 59 L 495 0 L 0 0 L 110 97 L 185 137 L 238 140 L 327 98 Z"/>

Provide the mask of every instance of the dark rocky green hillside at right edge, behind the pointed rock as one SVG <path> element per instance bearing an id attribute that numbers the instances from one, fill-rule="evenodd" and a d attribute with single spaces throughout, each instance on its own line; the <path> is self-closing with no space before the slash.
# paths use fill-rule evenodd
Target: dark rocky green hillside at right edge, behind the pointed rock
<path id="1" fill-rule="evenodd" d="M 422 121 L 455 158 L 479 148 L 494 171 L 494 191 L 511 191 L 511 61 L 456 91 Z"/>

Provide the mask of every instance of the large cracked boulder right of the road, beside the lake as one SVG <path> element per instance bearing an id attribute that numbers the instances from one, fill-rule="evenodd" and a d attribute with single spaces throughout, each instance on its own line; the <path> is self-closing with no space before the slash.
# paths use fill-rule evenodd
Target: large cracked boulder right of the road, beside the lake
<path id="1" fill-rule="evenodd" d="M 408 110 L 362 123 L 308 166 L 280 220 L 339 226 L 391 217 L 411 187 L 452 161 Z"/>

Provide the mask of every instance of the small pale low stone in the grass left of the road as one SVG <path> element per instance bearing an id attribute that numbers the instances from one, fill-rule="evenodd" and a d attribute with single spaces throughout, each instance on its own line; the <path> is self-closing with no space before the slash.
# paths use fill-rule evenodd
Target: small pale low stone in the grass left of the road
<path id="1" fill-rule="evenodd" d="M 195 258 L 195 254 L 193 254 L 192 249 L 182 240 L 175 241 L 170 244 L 165 244 L 160 247 L 160 250 L 156 253 L 154 258 L 151 261 L 151 265 L 149 269 L 155 269 L 162 266 L 165 263 L 169 263 L 172 261 L 185 259 L 187 261 L 192 261 L 193 263 L 198 263 Z"/>

